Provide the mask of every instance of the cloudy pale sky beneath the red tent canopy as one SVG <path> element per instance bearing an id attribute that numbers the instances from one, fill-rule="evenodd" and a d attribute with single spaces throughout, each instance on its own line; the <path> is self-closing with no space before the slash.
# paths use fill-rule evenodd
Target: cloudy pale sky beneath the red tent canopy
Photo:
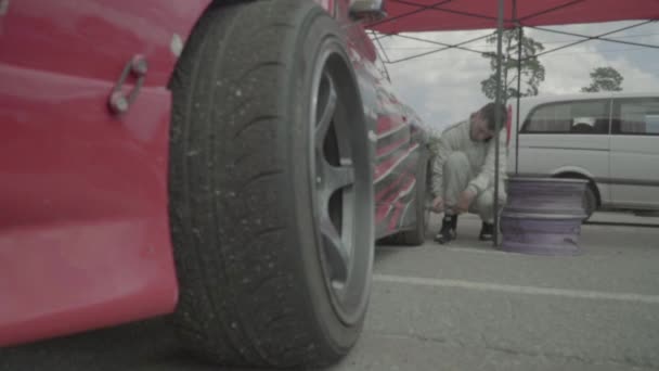
<path id="1" fill-rule="evenodd" d="M 615 22 L 547 27 L 582 35 L 598 35 L 622 28 L 634 22 Z M 456 43 L 493 30 L 419 33 L 411 36 Z M 554 49 L 579 38 L 527 29 L 526 35 L 543 42 L 545 50 Z M 659 22 L 649 23 L 609 38 L 659 46 Z M 391 60 L 430 51 L 437 47 L 388 37 L 382 40 Z M 466 47 L 477 50 L 494 50 L 493 46 L 476 41 Z M 587 41 L 540 57 L 545 66 L 545 81 L 540 94 L 579 92 L 590 84 L 590 73 L 596 67 L 611 66 L 624 77 L 624 91 L 659 91 L 659 49 Z M 395 89 L 427 125 L 441 129 L 464 119 L 488 100 L 480 91 L 480 81 L 490 75 L 488 60 L 479 54 L 450 50 L 415 60 L 388 64 Z"/>

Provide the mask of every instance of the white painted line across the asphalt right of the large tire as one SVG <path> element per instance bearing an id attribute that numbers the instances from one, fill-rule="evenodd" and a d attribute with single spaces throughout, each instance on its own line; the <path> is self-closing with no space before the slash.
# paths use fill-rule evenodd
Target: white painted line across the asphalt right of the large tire
<path id="1" fill-rule="evenodd" d="M 659 304 L 659 295 L 644 295 L 644 294 L 636 294 L 636 293 L 611 293 L 611 292 L 586 291 L 586 290 L 518 286 L 518 285 L 512 285 L 512 284 L 471 282 L 471 281 L 462 281 L 462 280 L 427 279 L 427 278 L 418 278 L 418 277 L 403 277 L 403 276 L 390 276 L 390 274 L 373 274 L 373 280 L 377 281 L 377 282 L 401 283 L 401 284 L 411 284 L 411 285 L 418 285 L 418 286 L 456 287 L 456 289 L 503 292 L 503 293 L 524 294 L 524 295 L 541 295 L 541 296 L 544 295 L 544 296 L 583 298 L 583 299 L 592 299 L 592 300 L 615 300 L 615 302 L 630 302 L 630 303 L 644 303 L 644 304 Z"/>

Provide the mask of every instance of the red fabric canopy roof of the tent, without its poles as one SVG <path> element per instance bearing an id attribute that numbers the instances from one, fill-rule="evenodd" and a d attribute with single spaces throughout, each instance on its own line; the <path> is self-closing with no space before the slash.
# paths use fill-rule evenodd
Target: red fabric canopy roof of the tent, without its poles
<path id="1" fill-rule="evenodd" d="M 496 28 L 495 0 L 385 0 L 384 34 Z M 505 0 L 504 27 L 658 20 L 659 0 Z"/>

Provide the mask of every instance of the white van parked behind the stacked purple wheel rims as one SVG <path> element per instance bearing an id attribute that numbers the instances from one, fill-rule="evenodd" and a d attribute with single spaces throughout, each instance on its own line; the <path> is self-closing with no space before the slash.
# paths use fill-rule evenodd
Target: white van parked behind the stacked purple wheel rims
<path id="1" fill-rule="evenodd" d="M 525 98 L 519 126 L 516 108 L 509 100 L 509 175 L 591 180 L 589 215 L 659 209 L 659 92 Z"/>

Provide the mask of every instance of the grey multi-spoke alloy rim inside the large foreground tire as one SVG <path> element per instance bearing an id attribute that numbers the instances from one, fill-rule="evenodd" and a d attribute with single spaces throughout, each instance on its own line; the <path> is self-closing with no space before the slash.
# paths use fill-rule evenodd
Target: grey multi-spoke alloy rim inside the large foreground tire
<path id="1" fill-rule="evenodd" d="M 373 264 L 373 193 L 365 130 L 350 120 L 351 75 L 338 47 L 318 57 L 311 97 L 311 184 L 316 238 L 334 310 L 356 323 L 366 306 Z M 352 106 L 351 106 L 352 105 Z"/>

